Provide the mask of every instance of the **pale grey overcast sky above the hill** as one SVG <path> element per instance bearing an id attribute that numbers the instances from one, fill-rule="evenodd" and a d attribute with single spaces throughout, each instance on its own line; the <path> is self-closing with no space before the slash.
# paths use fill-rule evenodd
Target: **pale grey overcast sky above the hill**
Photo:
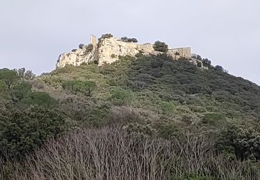
<path id="1" fill-rule="evenodd" d="M 259 0 L 0 0 L 0 69 L 55 69 L 89 35 L 166 42 L 260 85 Z"/>

